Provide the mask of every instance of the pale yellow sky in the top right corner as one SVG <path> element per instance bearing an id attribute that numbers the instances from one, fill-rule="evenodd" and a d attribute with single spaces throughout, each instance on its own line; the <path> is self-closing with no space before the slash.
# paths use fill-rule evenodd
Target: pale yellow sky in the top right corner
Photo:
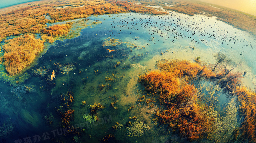
<path id="1" fill-rule="evenodd" d="M 236 9 L 256 16 L 256 0 L 198 0 Z"/>

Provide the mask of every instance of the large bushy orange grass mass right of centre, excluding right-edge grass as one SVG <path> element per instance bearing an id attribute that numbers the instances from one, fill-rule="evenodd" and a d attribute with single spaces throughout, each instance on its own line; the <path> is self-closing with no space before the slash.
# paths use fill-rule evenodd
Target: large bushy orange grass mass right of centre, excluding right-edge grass
<path id="1" fill-rule="evenodd" d="M 188 84 L 187 79 L 196 78 L 203 71 L 206 71 L 204 77 L 215 75 L 206 67 L 185 60 L 160 60 L 156 65 L 161 71 L 150 71 L 139 75 L 138 79 L 146 91 L 157 95 L 159 103 L 163 103 L 163 108 L 155 112 L 156 120 L 179 130 L 189 139 L 210 133 L 214 118 L 208 115 L 206 106 L 197 103 L 197 89 Z"/>

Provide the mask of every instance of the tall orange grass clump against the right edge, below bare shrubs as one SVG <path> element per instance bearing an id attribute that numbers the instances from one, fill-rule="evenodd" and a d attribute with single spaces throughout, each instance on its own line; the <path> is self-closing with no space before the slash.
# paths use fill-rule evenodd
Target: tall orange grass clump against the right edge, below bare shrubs
<path id="1" fill-rule="evenodd" d="M 256 142 L 256 93 L 247 90 L 245 86 L 236 88 L 236 95 L 241 102 L 241 111 L 245 119 L 241 129 L 243 135 L 249 137 L 251 142 Z"/>

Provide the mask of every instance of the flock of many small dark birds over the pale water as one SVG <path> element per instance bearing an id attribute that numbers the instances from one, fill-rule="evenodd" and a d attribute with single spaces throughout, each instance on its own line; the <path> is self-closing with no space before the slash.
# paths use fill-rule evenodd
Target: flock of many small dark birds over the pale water
<path id="1" fill-rule="evenodd" d="M 213 21 L 212 18 L 206 16 L 191 17 L 183 14 L 180 17 L 180 15 L 174 13 L 155 16 L 130 13 L 118 21 L 111 22 L 109 34 L 117 38 L 122 33 L 138 37 L 141 34 L 147 34 L 148 41 L 150 41 L 147 45 L 160 44 L 159 42 L 184 44 L 185 41 L 207 45 L 215 40 L 221 46 L 236 47 L 234 49 L 241 50 L 240 55 L 244 52 L 244 47 L 251 49 L 256 47 L 255 38 L 254 40 L 246 38 L 248 33 L 235 28 L 229 29 L 232 27 L 228 27 L 225 23 L 220 24 L 220 21 L 216 19 Z M 134 40 L 139 40 L 139 38 Z"/>

